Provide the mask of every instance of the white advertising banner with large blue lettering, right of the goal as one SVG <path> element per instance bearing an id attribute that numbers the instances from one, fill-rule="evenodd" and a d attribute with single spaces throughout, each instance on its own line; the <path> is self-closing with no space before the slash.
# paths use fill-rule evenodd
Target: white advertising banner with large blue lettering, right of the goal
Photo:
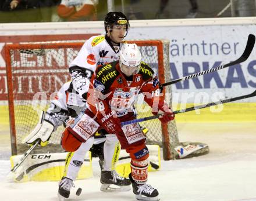
<path id="1" fill-rule="evenodd" d="M 246 47 L 249 34 L 256 33 L 251 25 L 203 25 L 182 27 L 143 27 L 131 29 L 127 38 L 164 38 L 170 41 L 172 79 L 182 78 L 238 59 Z M 230 98 L 256 90 L 256 47 L 244 63 L 212 72 L 173 85 L 177 101 L 182 94 L 188 103 L 197 102 L 195 96 Z M 199 95 L 198 95 L 199 96 Z M 212 97 L 214 98 L 214 97 Z M 173 100 L 175 101 L 175 100 Z M 205 100 L 208 102 L 208 100 Z M 214 101 L 209 99 L 209 101 Z M 255 98 L 244 100 L 256 102 Z"/>

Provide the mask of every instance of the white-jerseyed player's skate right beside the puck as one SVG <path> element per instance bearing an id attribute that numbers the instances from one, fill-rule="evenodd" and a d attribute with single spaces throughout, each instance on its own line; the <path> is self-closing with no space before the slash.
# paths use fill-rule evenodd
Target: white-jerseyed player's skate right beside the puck
<path id="1" fill-rule="evenodd" d="M 59 201 L 64 201 L 69 198 L 70 188 L 72 187 L 74 188 L 73 180 L 67 177 L 62 177 L 62 180 L 59 182 Z"/>

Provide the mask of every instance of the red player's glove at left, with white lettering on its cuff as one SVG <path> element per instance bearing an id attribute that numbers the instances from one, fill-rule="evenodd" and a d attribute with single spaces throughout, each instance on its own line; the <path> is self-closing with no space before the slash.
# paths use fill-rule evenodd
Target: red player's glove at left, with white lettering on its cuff
<path id="1" fill-rule="evenodd" d="M 98 116 L 99 124 L 104 127 L 108 133 L 120 133 L 122 132 L 121 123 L 119 118 L 116 116 L 115 111 L 107 111 L 106 115 Z"/>

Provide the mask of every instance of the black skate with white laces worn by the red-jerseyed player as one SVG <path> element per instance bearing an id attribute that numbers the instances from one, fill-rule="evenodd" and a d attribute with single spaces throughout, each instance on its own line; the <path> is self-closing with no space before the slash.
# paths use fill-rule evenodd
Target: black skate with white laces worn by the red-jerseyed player
<path id="1" fill-rule="evenodd" d="M 131 185 L 133 186 L 133 193 L 135 194 L 135 198 L 137 200 L 150 200 L 150 201 L 158 201 L 158 191 L 157 189 L 151 187 L 149 184 L 138 184 L 133 180 L 131 174 L 129 174 L 129 178 L 131 181 Z"/>

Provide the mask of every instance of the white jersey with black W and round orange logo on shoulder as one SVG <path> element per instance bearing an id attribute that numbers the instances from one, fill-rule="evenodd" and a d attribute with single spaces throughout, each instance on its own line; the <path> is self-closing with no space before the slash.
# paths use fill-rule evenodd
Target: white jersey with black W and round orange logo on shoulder
<path id="1" fill-rule="evenodd" d="M 119 46 L 112 46 L 104 35 L 92 36 L 81 47 L 69 68 L 78 66 L 94 72 L 97 65 L 104 65 L 116 60 L 119 60 Z"/>

